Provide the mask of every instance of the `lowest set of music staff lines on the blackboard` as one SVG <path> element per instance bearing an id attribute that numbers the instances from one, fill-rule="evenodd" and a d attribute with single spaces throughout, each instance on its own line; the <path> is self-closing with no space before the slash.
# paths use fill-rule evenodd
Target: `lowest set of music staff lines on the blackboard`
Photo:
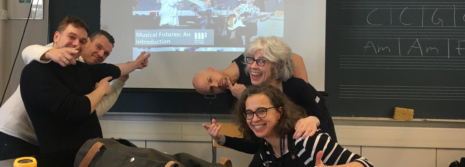
<path id="1" fill-rule="evenodd" d="M 339 85 L 339 98 L 402 100 L 465 100 L 465 87 Z"/>

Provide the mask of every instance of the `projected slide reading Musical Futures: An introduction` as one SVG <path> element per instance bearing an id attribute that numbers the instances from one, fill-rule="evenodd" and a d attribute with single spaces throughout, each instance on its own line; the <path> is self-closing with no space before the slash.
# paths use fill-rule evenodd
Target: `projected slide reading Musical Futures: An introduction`
<path id="1" fill-rule="evenodd" d="M 133 0 L 133 53 L 243 52 L 258 36 L 284 37 L 284 1 Z"/>

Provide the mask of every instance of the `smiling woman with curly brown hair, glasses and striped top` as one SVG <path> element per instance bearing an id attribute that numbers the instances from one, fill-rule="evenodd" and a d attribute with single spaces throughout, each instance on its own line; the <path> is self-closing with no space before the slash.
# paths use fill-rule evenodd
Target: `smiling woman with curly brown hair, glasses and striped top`
<path id="1" fill-rule="evenodd" d="M 232 112 L 244 138 L 260 143 L 249 167 L 373 167 L 321 130 L 293 139 L 295 123 L 306 116 L 304 109 L 271 85 L 247 87 Z"/>

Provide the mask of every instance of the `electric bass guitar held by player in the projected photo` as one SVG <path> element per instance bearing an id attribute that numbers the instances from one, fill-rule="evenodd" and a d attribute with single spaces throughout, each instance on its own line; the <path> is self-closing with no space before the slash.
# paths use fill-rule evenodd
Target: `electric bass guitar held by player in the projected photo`
<path id="1" fill-rule="evenodd" d="M 240 14 L 239 15 L 240 19 L 238 20 L 235 14 L 230 14 L 227 18 L 228 29 L 233 31 L 237 27 L 246 27 L 244 23 L 251 21 L 251 20 L 259 19 L 259 18 L 264 18 L 266 17 L 266 15 L 268 14 L 259 15 L 259 16 L 254 14 L 251 16 L 249 12 L 246 12 L 246 13 Z M 275 15 L 276 17 L 281 17 L 282 15 L 284 15 L 284 11 L 276 11 L 274 13 L 271 13 L 271 15 Z"/>

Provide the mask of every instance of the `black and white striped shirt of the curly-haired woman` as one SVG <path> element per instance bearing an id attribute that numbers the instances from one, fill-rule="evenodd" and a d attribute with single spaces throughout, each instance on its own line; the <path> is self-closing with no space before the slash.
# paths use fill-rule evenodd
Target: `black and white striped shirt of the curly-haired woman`
<path id="1" fill-rule="evenodd" d="M 292 136 L 294 132 L 287 134 Z M 272 146 L 263 140 L 259 152 L 255 154 L 249 167 L 314 167 L 317 153 L 323 151 L 321 160 L 326 166 L 342 165 L 350 162 L 358 162 L 364 167 L 373 167 L 372 163 L 358 154 L 353 154 L 349 150 L 341 147 L 337 142 L 331 140 L 331 137 L 318 129 L 312 136 L 305 139 L 299 138 L 294 140 L 288 138 L 288 149 L 282 157 L 276 157 Z M 293 146 L 291 146 L 293 145 Z M 292 159 L 294 155 L 295 159 Z"/>

